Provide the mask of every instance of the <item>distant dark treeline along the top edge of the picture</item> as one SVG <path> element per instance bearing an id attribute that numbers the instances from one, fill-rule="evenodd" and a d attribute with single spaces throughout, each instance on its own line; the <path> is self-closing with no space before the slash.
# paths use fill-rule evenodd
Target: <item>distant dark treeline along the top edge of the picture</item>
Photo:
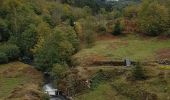
<path id="1" fill-rule="evenodd" d="M 76 7 L 88 6 L 92 9 L 93 14 L 100 12 L 101 8 L 106 11 L 113 11 L 113 9 L 121 11 L 124 7 L 130 4 L 140 3 L 141 0 L 60 0 L 62 3 L 67 3 Z"/>

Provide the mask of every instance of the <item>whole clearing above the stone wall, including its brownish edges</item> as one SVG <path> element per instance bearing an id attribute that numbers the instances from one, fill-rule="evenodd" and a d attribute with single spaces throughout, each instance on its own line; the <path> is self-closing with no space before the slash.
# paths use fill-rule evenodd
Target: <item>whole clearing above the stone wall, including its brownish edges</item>
<path id="1" fill-rule="evenodd" d="M 170 60 L 170 40 L 141 38 L 128 35 L 119 38 L 101 39 L 92 48 L 83 49 L 74 59 L 76 64 L 85 66 L 100 60 L 156 61 Z M 166 52 L 163 52 L 166 51 Z M 163 52 L 163 53 L 162 53 Z"/>

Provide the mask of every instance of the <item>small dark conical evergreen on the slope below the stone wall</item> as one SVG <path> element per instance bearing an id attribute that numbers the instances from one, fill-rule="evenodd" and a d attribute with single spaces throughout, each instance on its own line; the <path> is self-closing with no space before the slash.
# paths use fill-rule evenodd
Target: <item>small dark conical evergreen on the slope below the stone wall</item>
<path id="1" fill-rule="evenodd" d="M 146 78 L 144 69 L 140 63 L 137 63 L 136 66 L 132 70 L 132 77 L 135 80 L 142 80 Z"/>

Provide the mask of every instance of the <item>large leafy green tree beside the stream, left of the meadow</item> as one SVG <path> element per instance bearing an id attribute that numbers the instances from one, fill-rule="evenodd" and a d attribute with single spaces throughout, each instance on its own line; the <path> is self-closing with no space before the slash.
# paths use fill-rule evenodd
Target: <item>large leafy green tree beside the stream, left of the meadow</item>
<path id="1" fill-rule="evenodd" d="M 43 45 L 37 48 L 34 61 L 39 70 L 50 71 L 55 63 L 68 63 L 73 52 L 74 48 L 65 33 L 55 28 L 44 38 Z"/>

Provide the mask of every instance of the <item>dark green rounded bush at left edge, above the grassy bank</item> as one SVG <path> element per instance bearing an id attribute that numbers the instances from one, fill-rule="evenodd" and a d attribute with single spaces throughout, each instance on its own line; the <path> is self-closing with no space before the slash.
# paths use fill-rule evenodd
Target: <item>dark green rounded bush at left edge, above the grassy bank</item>
<path id="1" fill-rule="evenodd" d="M 19 48 L 13 44 L 4 44 L 0 46 L 0 52 L 6 54 L 9 60 L 15 60 L 19 57 Z"/>

